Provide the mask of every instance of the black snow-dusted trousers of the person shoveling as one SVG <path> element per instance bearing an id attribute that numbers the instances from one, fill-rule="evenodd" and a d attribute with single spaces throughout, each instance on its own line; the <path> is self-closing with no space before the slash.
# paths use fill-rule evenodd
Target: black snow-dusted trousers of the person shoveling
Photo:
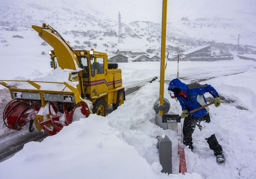
<path id="1" fill-rule="evenodd" d="M 186 146 L 189 146 L 190 149 L 193 149 L 193 142 L 192 142 L 192 134 L 195 130 L 196 125 L 198 128 L 201 130 L 202 126 L 200 125 L 200 122 L 207 122 L 209 123 L 210 120 L 210 115 L 209 113 L 196 118 L 193 116 L 188 116 L 184 119 L 184 124 L 183 124 L 183 143 Z M 214 155 L 221 155 L 222 154 L 222 147 L 217 141 L 217 138 L 215 137 L 215 134 L 211 135 L 210 137 L 205 139 L 207 143 L 209 144 L 210 149 L 213 150 Z"/>

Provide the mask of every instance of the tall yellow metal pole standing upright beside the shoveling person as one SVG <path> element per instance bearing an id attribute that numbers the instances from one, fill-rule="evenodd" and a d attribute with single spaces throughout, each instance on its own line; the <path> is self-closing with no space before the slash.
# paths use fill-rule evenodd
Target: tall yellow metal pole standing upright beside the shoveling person
<path id="1" fill-rule="evenodd" d="M 166 19 L 167 19 L 167 0 L 163 0 L 159 115 L 163 115 L 163 108 L 164 108 L 163 107 L 163 89 L 165 85 Z"/>

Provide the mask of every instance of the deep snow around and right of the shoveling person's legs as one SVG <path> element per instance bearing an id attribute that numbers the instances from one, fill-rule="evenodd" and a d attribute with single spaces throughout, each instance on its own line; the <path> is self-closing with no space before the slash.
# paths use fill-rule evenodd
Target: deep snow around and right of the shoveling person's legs
<path id="1" fill-rule="evenodd" d="M 194 153 L 186 150 L 188 172 L 197 172 L 203 178 L 249 178 L 256 177 L 256 138 L 255 101 L 256 69 L 232 76 L 223 76 L 205 81 L 218 90 L 220 95 L 236 100 L 248 110 L 241 110 L 234 103 L 223 103 L 211 107 L 211 123 L 202 132 L 198 128 L 193 134 Z M 222 165 L 213 162 L 212 152 L 204 140 L 204 135 L 214 131 L 222 145 L 226 162 Z"/>

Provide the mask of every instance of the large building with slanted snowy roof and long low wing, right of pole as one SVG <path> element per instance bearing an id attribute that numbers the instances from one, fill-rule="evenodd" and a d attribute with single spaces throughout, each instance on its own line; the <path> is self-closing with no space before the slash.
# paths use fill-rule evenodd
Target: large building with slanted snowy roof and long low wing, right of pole
<path id="1" fill-rule="evenodd" d="M 177 61 L 178 56 L 174 55 L 168 58 L 169 61 Z M 179 61 L 217 61 L 232 60 L 231 55 L 211 55 L 211 45 L 198 46 L 179 54 Z"/>

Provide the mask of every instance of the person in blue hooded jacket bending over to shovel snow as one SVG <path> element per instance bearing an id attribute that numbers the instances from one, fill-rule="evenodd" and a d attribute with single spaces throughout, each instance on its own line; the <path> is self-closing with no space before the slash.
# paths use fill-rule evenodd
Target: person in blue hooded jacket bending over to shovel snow
<path id="1" fill-rule="evenodd" d="M 197 109 L 203 105 L 206 105 L 206 99 L 204 93 L 209 92 L 214 98 L 215 107 L 221 104 L 218 92 L 211 85 L 201 85 L 199 83 L 191 83 L 186 85 L 182 83 L 178 78 L 170 81 L 168 90 L 174 92 L 174 96 L 179 100 L 182 107 L 181 117 L 184 118 L 183 124 L 183 143 L 193 151 L 192 133 L 195 130 L 196 125 L 199 129 L 202 129 L 200 122 L 210 122 L 209 108 L 203 108 L 195 113 L 188 114 L 188 112 Z M 223 162 L 222 147 L 217 141 L 215 134 L 206 138 L 210 149 L 213 150 L 214 155 L 217 157 L 218 162 Z"/>

